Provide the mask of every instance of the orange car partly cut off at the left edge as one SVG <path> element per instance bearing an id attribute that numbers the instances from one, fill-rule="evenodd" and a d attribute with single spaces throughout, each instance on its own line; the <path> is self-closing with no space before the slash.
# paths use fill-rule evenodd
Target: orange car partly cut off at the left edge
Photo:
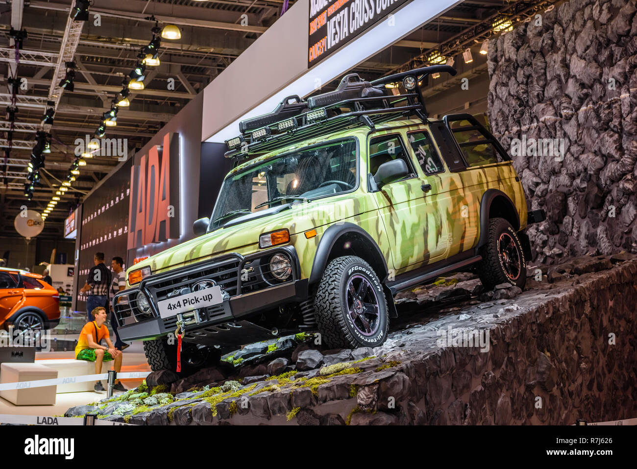
<path id="1" fill-rule="evenodd" d="M 60 294 L 42 276 L 0 268 L 0 328 L 52 329 L 60 322 Z"/>

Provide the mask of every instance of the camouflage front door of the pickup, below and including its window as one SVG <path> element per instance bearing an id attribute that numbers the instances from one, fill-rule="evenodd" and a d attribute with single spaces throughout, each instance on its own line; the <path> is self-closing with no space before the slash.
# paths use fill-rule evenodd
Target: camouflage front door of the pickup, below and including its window
<path id="1" fill-rule="evenodd" d="M 396 274 L 445 257 L 447 227 L 436 205 L 429 203 L 422 189 L 412 157 L 399 132 L 372 135 L 368 143 L 368 168 L 374 175 L 383 162 L 403 159 L 411 173 L 383 185 L 376 197 L 380 217 L 392 247 Z"/>

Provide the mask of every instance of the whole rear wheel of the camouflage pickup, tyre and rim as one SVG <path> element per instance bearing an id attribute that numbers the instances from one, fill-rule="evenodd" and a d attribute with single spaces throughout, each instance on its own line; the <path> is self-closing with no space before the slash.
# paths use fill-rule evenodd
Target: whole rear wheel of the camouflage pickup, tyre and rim
<path id="1" fill-rule="evenodd" d="M 526 261 L 520 240 L 511 224 L 503 218 L 489 220 L 489 238 L 482 248 L 478 277 L 485 289 L 509 283 L 524 289 Z"/>

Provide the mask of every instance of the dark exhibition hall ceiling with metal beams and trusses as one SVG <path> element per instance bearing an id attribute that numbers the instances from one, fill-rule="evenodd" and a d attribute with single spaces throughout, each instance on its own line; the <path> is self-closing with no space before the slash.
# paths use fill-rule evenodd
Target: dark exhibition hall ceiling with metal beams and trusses
<path id="1" fill-rule="evenodd" d="M 300 0 L 297 0 L 300 1 Z M 306 1 L 306 0 L 303 0 Z M 351 1 L 351 0 L 350 0 Z M 415 0 L 424 1 L 424 0 Z M 214 80 L 246 48 L 268 30 L 289 0 L 94 0 L 88 20 L 69 20 L 78 0 L 0 0 L 0 105 L 12 106 L 11 81 L 19 87 L 13 115 L 0 117 L 2 157 L 11 140 L 8 161 L 0 162 L 0 236 L 15 236 L 13 219 L 20 206 L 41 211 L 59 191 L 76 159 L 76 139 L 92 137 L 111 109 L 138 64 L 140 49 L 147 47 L 166 25 L 175 25 L 181 37 L 161 38 L 157 48 L 159 65 L 145 69 L 144 89 L 130 89 L 129 106 L 120 106 L 117 125 L 106 127 L 106 137 L 126 139 L 128 154 L 141 148 L 192 97 Z M 371 80 L 386 75 L 429 48 L 470 31 L 485 18 L 512 4 L 538 4 L 541 1 L 466 0 L 424 25 L 394 46 L 363 62 L 354 70 Z M 150 19 L 149 19 L 150 18 Z M 155 19 L 153 19 L 155 18 Z M 74 25 L 75 24 L 75 25 Z M 77 24 L 81 26 L 78 29 Z M 13 34 L 11 29 L 13 27 Z M 15 32 L 25 31 L 20 62 L 15 63 Z M 289 38 L 307 40 L 307 38 Z M 273 50 L 272 54 L 285 54 Z M 74 62 L 68 68 L 67 62 Z M 59 92 L 61 77 L 73 70 L 73 86 Z M 246 86 L 254 76 L 237 77 Z M 72 74 L 71 74 L 72 75 Z M 331 84 L 333 85 L 333 83 Z M 72 90 L 71 90 L 72 88 Z M 59 93 L 59 97 L 55 97 Z M 47 101 L 54 96 L 54 122 L 45 131 L 51 134 L 50 153 L 39 171 L 41 186 L 32 200 L 25 198 L 27 162 L 36 145 L 36 131 L 42 129 Z M 121 96 L 120 96 L 121 97 Z M 222 112 L 222 110 L 220 110 Z M 124 151 L 124 148 L 121 148 Z M 8 164 L 6 162 L 17 162 Z M 120 161 L 117 155 L 85 159 L 85 166 L 71 188 L 50 213 L 42 237 L 59 238 L 69 210 L 82 201 L 97 182 Z"/>

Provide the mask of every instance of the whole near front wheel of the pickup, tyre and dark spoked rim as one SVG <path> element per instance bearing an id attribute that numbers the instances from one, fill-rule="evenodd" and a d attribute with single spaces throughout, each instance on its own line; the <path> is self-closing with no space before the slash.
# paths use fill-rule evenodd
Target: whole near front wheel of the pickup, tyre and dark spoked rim
<path id="1" fill-rule="evenodd" d="M 318 331 L 330 348 L 378 347 L 387 339 L 383 285 L 360 257 L 337 257 L 328 264 L 315 308 Z"/>

